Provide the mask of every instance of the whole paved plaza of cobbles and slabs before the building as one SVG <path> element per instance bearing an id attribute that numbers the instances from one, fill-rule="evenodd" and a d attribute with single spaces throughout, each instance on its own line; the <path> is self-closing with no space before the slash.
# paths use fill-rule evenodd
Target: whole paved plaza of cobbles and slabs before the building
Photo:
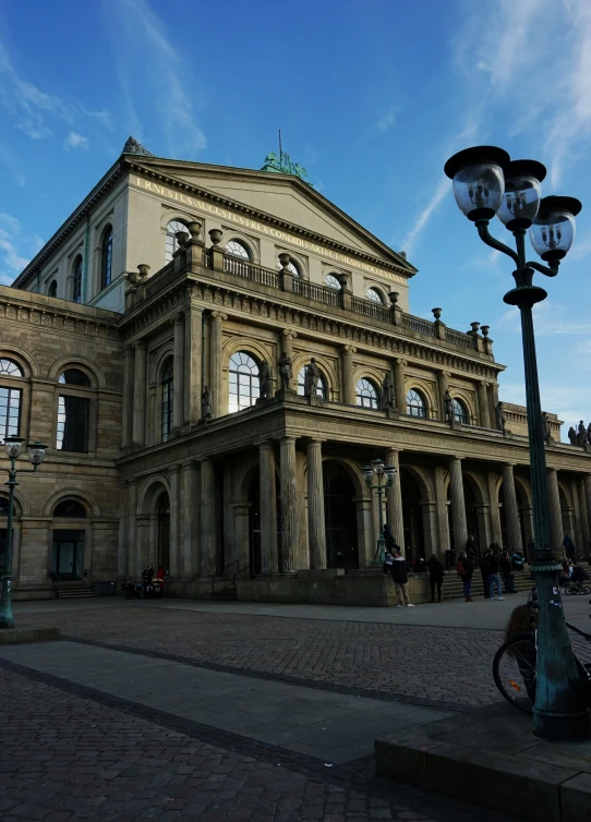
<path id="1" fill-rule="evenodd" d="M 506 821 L 376 778 L 372 740 L 497 701 L 491 658 L 522 599 L 19 604 L 20 627 L 64 639 L 0 650 L 2 822 Z"/>

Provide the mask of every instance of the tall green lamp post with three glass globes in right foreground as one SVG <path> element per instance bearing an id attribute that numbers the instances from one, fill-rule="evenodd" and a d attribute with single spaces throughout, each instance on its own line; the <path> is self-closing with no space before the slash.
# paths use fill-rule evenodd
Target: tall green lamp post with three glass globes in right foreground
<path id="1" fill-rule="evenodd" d="M 456 202 L 475 225 L 480 239 L 509 256 L 516 265 L 512 273 L 516 287 L 503 299 L 521 312 L 535 532 L 533 571 L 539 601 L 534 734 L 551 741 L 589 739 L 590 712 L 559 595 L 560 566 L 554 554 L 558 546 L 551 544 L 550 536 L 546 457 L 532 317 L 533 305 L 547 297 L 543 288 L 533 285 L 533 274 L 556 276 L 575 239 L 575 217 L 581 204 L 574 197 L 542 198 L 544 166 L 535 160 L 511 161 L 505 150 L 494 146 L 475 146 L 454 155 L 445 165 L 445 173 L 454 181 Z M 495 214 L 514 234 L 515 250 L 489 233 L 489 223 Z M 533 249 L 547 265 L 527 262 L 528 231 Z"/>

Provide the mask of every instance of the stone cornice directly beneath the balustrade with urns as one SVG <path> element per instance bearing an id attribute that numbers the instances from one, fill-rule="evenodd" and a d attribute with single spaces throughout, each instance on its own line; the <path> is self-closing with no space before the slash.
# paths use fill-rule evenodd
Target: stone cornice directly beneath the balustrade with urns
<path id="1" fill-rule="evenodd" d="M 237 278 L 232 275 L 225 276 L 208 269 L 203 274 L 171 275 L 167 288 L 158 290 L 123 316 L 120 327 L 125 335 L 125 342 L 148 335 L 162 323 L 168 323 L 191 295 L 193 301 L 196 300 L 201 306 L 210 311 L 222 307 L 230 316 L 240 319 L 249 318 L 258 323 L 266 321 L 279 328 L 288 326 L 299 334 L 307 330 L 312 336 L 328 335 L 336 338 L 335 342 L 376 349 L 376 355 L 413 358 L 435 368 L 451 368 L 490 380 L 495 380 L 497 374 L 505 368 L 492 360 L 478 356 L 477 352 L 471 355 L 448 348 L 443 340 L 422 341 L 410 337 L 408 331 L 401 333 L 398 326 L 389 326 L 358 314 L 351 315 L 350 312 L 334 306 L 328 310 L 318 303 L 309 305 L 305 298 L 284 291 L 265 289 L 264 292 L 256 293 L 250 281 L 244 281 L 250 287 L 246 289 L 239 287 L 234 279 Z"/>

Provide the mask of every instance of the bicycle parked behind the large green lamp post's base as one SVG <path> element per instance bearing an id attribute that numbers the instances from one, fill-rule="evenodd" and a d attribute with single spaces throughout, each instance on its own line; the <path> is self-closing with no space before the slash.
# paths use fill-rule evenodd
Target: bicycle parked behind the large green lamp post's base
<path id="1" fill-rule="evenodd" d="M 535 621 L 538 607 L 535 589 L 528 597 L 530 621 Z M 570 644 L 579 676 L 584 682 L 587 702 L 591 706 L 591 633 L 567 620 Z M 504 642 L 493 660 L 493 678 L 503 697 L 514 708 L 533 713 L 535 702 L 535 665 L 538 660 L 538 631 L 519 631 Z"/>

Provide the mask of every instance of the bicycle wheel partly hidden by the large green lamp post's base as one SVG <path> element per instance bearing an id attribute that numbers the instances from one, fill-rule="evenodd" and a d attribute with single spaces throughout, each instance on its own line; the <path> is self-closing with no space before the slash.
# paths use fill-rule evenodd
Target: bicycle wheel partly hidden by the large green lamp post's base
<path id="1" fill-rule="evenodd" d="M 535 640 L 532 631 L 521 631 L 500 645 L 493 660 L 495 685 L 520 711 L 533 712 L 535 700 Z"/>

